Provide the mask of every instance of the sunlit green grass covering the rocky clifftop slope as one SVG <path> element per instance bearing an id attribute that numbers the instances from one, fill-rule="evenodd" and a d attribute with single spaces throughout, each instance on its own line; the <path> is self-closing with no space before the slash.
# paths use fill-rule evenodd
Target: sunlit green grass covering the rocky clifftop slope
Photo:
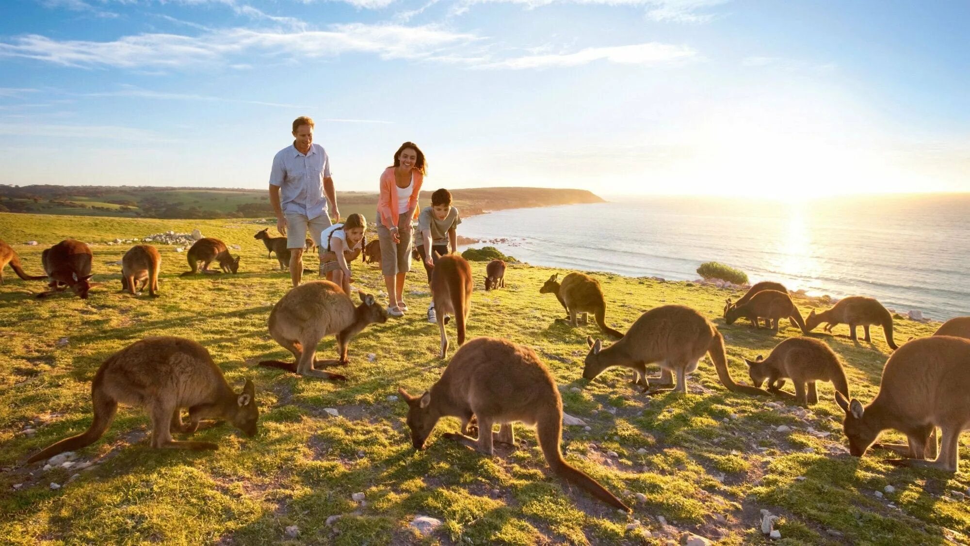
<path id="1" fill-rule="evenodd" d="M 118 291 L 115 262 L 127 245 L 105 241 L 196 227 L 242 245 L 240 274 L 179 278 L 184 254 L 160 246 L 161 297 Z M 706 359 L 686 396 L 644 396 L 620 370 L 587 383 L 581 378 L 585 337 L 598 337 L 596 326 L 573 330 L 554 321 L 563 310 L 552 296 L 538 294 L 553 273 L 544 268 L 509 266 L 506 288 L 486 293 L 484 264 L 472 263 L 469 337 L 507 337 L 536 350 L 562 386 L 566 412 L 591 428 L 566 427 L 566 459 L 627 498 L 633 513 L 621 515 L 551 475 L 528 429 L 520 428 L 517 449 L 499 447 L 489 458 L 441 438 L 457 431 L 457 421 L 448 419 L 428 449 L 416 453 L 404 425 L 405 404 L 388 397 L 398 385 L 421 392 L 445 366 L 436 359 L 437 327 L 422 312 L 429 302 L 424 273 L 415 264 L 409 276 L 406 300 L 413 310 L 407 317 L 372 326 L 353 341 L 351 365 L 341 370 L 346 383 L 257 368 L 261 359 L 289 358 L 266 329 L 288 275 L 275 272 L 275 259 L 252 239 L 260 227 L 247 220 L 0 214 L 0 233 L 15 243 L 28 273 L 41 271 L 43 248 L 71 236 L 100 242 L 92 246 L 94 273 L 108 283 L 87 301 L 66 295 L 37 300 L 33 293 L 44 283 L 21 281 L 9 270 L 0 287 L 0 536 L 8 543 L 663 544 L 682 531 L 725 544 L 766 543 L 756 530 L 761 508 L 782 517 L 777 529 L 783 538 L 776 541 L 782 544 L 940 544 L 970 535 L 970 506 L 945 495 L 965 491 L 970 476 L 895 468 L 885 463 L 886 452 L 850 457 L 827 383 L 820 387 L 821 402 L 803 417 L 795 406 L 727 393 Z M 18 244 L 28 240 L 41 244 Z M 376 267 L 357 262 L 353 268 L 358 286 L 381 290 Z M 747 379 L 742 357 L 766 355 L 782 337 L 797 335 L 787 321 L 778 337 L 724 325 L 724 300 L 738 293 L 594 274 L 607 297 L 607 322 L 621 331 L 663 304 L 691 305 L 715 319 L 737 379 Z M 813 305 L 795 302 L 803 314 Z M 895 323 L 897 339 L 935 328 Z M 878 331 L 872 344 L 853 343 L 845 326 L 835 333 L 816 335 L 847 364 L 856 396 L 871 400 L 889 355 L 885 341 Z M 156 335 L 200 341 L 236 388 L 252 378 L 260 433 L 245 438 L 218 425 L 196 434 L 218 443 L 218 451 L 156 451 L 147 446 L 146 415 L 122 408 L 103 438 L 79 450 L 77 461 L 96 465 L 73 481 L 71 469 L 23 466 L 30 454 L 86 429 L 90 380 L 109 355 Z M 454 341 L 452 328 L 449 335 Z M 333 358 L 333 338 L 320 351 Z M 337 408 L 339 417 L 325 407 Z M 792 433 L 775 432 L 781 424 Z M 36 434 L 23 434 L 28 426 Z M 830 434 L 819 437 L 809 427 Z M 965 445 L 961 455 L 966 460 Z M 62 487 L 51 490 L 50 483 Z M 895 492 L 874 497 L 886 485 Z M 351 499 L 357 492 L 366 494 L 366 504 Z M 407 527 L 418 514 L 444 525 L 422 538 Z M 335 515 L 341 517 L 328 526 Z M 640 525 L 628 530 L 634 520 Z M 296 538 L 285 534 L 289 526 L 299 528 Z"/>

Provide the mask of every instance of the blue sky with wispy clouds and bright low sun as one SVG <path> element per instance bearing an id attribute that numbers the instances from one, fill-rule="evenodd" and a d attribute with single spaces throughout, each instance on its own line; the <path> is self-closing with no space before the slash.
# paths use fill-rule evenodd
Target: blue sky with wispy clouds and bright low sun
<path id="1" fill-rule="evenodd" d="M 0 183 L 970 191 L 970 1 L 4 0 Z"/>

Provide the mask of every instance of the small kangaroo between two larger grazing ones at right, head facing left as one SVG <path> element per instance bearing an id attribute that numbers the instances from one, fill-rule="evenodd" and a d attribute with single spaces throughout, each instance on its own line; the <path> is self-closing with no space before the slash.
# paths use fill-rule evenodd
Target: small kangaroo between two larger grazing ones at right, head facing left
<path id="1" fill-rule="evenodd" d="M 771 349 L 768 358 L 760 355 L 748 363 L 751 382 L 760 387 L 768 380 L 768 388 L 776 394 L 783 393 L 785 379 L 794 383 L 794 399 L 798 403 L 818 403 L 816 381 L 831 381 L 836 392 L 849 398 L 849 381 L 846 371 L 835 352 L 824 341 L 812 337 L 789 337 Z M 790 395 L 791 396 L 791 395 Z"/>

